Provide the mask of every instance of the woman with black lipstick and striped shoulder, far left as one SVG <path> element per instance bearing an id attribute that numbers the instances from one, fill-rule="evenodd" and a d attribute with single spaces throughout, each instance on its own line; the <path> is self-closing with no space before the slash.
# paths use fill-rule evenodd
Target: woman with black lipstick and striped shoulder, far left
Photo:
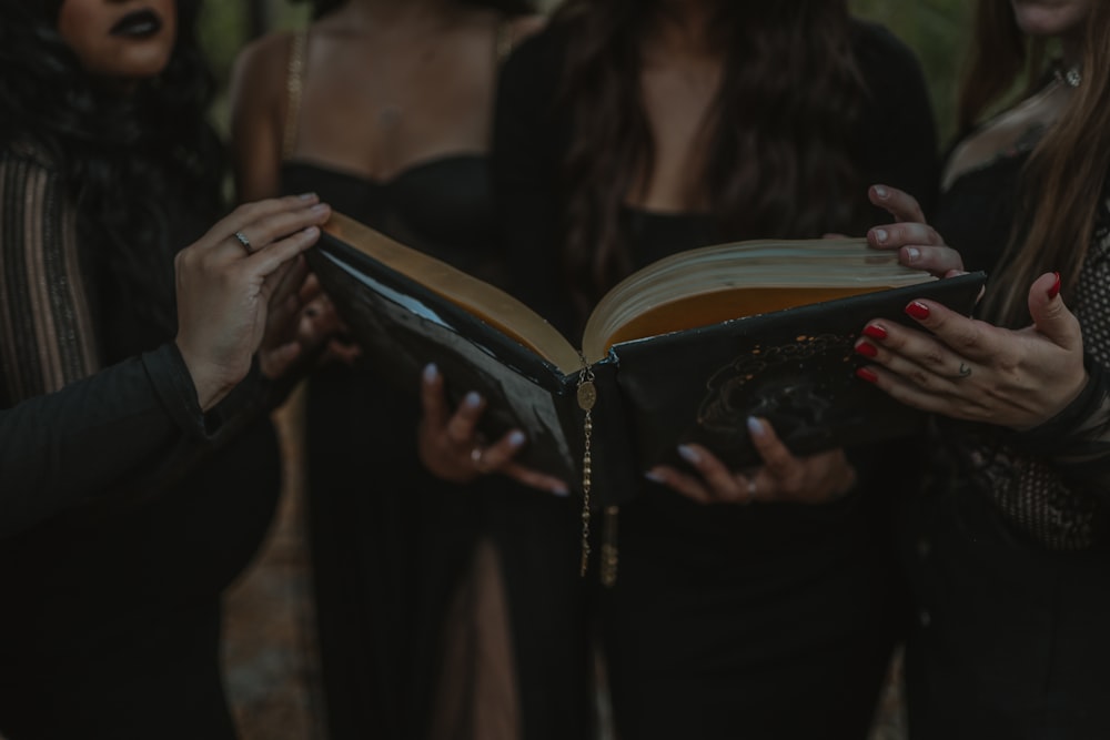
<path id="1" fill-rule="evenodd" d="M 0 2 L 9 740 L 235 736 L 220 595 L 273 509 L 266 378 L 302 353 L 297 255 L 330 211 L 216 221 L 196 12 Z"/>

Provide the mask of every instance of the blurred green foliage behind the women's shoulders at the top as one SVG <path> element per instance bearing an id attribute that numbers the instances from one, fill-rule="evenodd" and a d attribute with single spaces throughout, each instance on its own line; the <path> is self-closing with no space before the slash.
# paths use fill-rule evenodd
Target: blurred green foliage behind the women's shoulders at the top
<path id="1" fill-rule="evenodd" d="M 552 4 L 549 0 L 541 3 Z M 885 24 L 917 53 L 932 94 L 941 146 L 952 133 L 957 73 L 972 4 L 967 0 L 849 0 L 856 14 Z M 269 30 L 304 23 L 310 6 L 304 0 L 209 0 L 202 39 L 221 82 L 226 83 L 243 43 Z M 213 111 L 220 124 L 226 121 L 225 112 L 226 104 L 221 101 Z"/>

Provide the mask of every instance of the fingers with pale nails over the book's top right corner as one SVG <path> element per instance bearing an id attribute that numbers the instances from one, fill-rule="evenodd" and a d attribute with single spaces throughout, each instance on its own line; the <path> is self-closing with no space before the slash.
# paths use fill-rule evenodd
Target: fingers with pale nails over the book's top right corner
<path id="1" fill-rule="evenodd" d="M 937 277 L 963 272 L 960 253 L 945 244 L 944 237 L 925 220 L 921 205 L 909 193 L 889 185 L 871 185 L 867 197 L 894 216 L 892 224 L 872 226 L 867 243 L 876 250 L 897 250 L 898 261 L 907 267 L 925 270 Z"/>

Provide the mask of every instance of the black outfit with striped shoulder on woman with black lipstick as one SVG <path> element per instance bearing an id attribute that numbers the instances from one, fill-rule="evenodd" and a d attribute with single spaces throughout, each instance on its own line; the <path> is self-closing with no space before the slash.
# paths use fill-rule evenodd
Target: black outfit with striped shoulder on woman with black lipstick
<path id="1" fill-rule="evenodd" d="M 220 599 L 280 490 L 266 387 L 254 374 L 202 414 L 172 331 L 120 300 L 132 286 L 73 229 L 51 160 L 9 146 L 0 183 L 0 733 L 233 738 Z M 209 225 L 170 211 L 179 246 Z M 172 286 L 171 246 L 135 246 Z"/>

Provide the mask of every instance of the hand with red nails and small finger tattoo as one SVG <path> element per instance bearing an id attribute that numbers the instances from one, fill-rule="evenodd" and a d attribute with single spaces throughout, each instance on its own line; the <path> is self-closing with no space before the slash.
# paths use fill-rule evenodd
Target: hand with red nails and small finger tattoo
<path id="1" fill-rule="evenodd" d="M 1042 424 L 1088 381 L 1082 333 L 1059 295 L 1059 281 L 1046 273 L 1033 282 L 1033 324 L 1019 331 L 925 300 L 907 306 L 907 314 L 931 334 L 872 320 L 856 351 L 874 364 L 857 375 L 926 412 L 1012 429 Z"/>

